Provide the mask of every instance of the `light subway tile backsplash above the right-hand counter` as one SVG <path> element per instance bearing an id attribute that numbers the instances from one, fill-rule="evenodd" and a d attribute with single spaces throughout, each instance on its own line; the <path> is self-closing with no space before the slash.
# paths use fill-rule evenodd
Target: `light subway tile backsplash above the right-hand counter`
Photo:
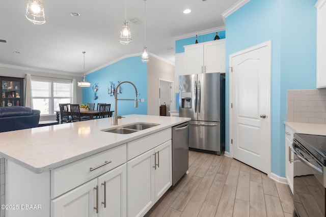
<path id="1" fill-rule="evenodd" d="M 287 121 L 326 124 L 326 89 L 287 90 Z"/>

